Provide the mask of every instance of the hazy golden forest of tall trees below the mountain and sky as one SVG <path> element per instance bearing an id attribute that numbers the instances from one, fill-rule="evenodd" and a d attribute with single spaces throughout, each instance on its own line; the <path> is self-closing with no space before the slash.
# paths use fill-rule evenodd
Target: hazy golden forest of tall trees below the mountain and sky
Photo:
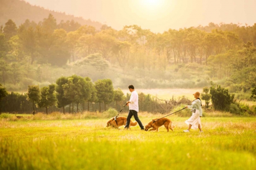
<path id="1" fill-rule="evenodd" d="M 256 24 L 210 23 L 152 33 L 137 25 L 122 30 L 103 25 L 96 30 L 75 22 L 57 24 L 51 14 L 38 23 L 26 20 L 19 28 L 10 19 L 0 29 L 0 82 L 41 82 L 41 66 L 63 68 L 70 63 L 93 67 L 98 74 L 118 67 L 123 73 L 136 72 L 137 78 L 149 73 L 153 79 L 158 73 L 163 81 L 172 81 L 178 76 L 169 76 L 170 71 L 188 74 L 184 70 L 189 72 L 196 63 L 207 78 L 225 80 L 232 92 L 246 92 L 256 86 L 255 35 Z M 162 81 L 158 79 L 154 76 L 152 83 Z"/>

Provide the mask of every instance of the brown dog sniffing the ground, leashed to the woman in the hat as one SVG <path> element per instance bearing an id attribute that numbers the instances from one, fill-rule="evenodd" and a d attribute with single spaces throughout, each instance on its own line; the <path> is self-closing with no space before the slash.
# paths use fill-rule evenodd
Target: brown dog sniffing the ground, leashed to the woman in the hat
<path id="1" fill-rule="evenodd" d="M 165 126 L 167 132 L 169 132 L 169 129 L 171 129 L 173 131 L 173 128 L 175 127 L 173 124 L 172 124 L 172 121 L 169 119 L 169 118 L 161 118 L 159 119 L 158 121 L 155 121 L 153 123 L 153 120 L 157 120 L 158 118 L 154 118 L 152 119 L 151 122 L 149 122 L 146 127 L 145 127 L 145 130 L 148 131 L 151 131 L 151 130 L 156 130 L 158 132 L 158 128 L 161 127 L 161 126 Z M 150 129 L 152 128 L 152 129 Z"/>

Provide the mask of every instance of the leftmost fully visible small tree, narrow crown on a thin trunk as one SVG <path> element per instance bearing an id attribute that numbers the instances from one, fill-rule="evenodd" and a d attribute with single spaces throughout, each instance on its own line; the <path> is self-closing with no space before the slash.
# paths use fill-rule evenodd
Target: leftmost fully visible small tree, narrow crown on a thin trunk
<path id="1" fill-rule="evenodd" d="M 40 89 L 38 85 L 29 85 L 27 89 L 27 100 L 33 102 L 33 115 L 35 114 L 34 104 L 41 99 Z"/>

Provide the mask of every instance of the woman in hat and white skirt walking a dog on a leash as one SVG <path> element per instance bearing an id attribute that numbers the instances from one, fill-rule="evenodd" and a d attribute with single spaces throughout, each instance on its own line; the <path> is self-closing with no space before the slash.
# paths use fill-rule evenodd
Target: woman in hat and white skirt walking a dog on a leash
<path id="1" fill-rule="evenodd" d="M 190 129 L 196 130 L 197 128 L 200 130 L 200 132 L 203 132 L 201 127 L 201 117 L 202 117 L 202 103 L 200 100 L 200 92 L 196 92 L 193 94 L 195 97 L 195 100 L 192 102 L 191 106 L 187 106 L 186 108 L 191 109 L 192 116 L 185 121 L 185 123 L 188 125 L 187 130 L 183 130 L 184 132 L 189 132 Z"/>

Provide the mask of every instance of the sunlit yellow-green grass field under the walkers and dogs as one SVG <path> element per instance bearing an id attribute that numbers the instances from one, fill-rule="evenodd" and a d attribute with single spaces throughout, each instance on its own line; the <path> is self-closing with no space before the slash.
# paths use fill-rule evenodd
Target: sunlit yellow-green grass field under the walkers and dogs
<path id="1" fill-rule="evenodd" d="M 256 169 L 255 117 L 203 117 L 204 133 L 184 133 L 187 118 L 171 115 L 176 128 L 167 133 L 106 128 L 96 113 L 60 115 L 0 119 L 0 169 Z M 140 119 L 145 126 L 161 116 Z"/>

